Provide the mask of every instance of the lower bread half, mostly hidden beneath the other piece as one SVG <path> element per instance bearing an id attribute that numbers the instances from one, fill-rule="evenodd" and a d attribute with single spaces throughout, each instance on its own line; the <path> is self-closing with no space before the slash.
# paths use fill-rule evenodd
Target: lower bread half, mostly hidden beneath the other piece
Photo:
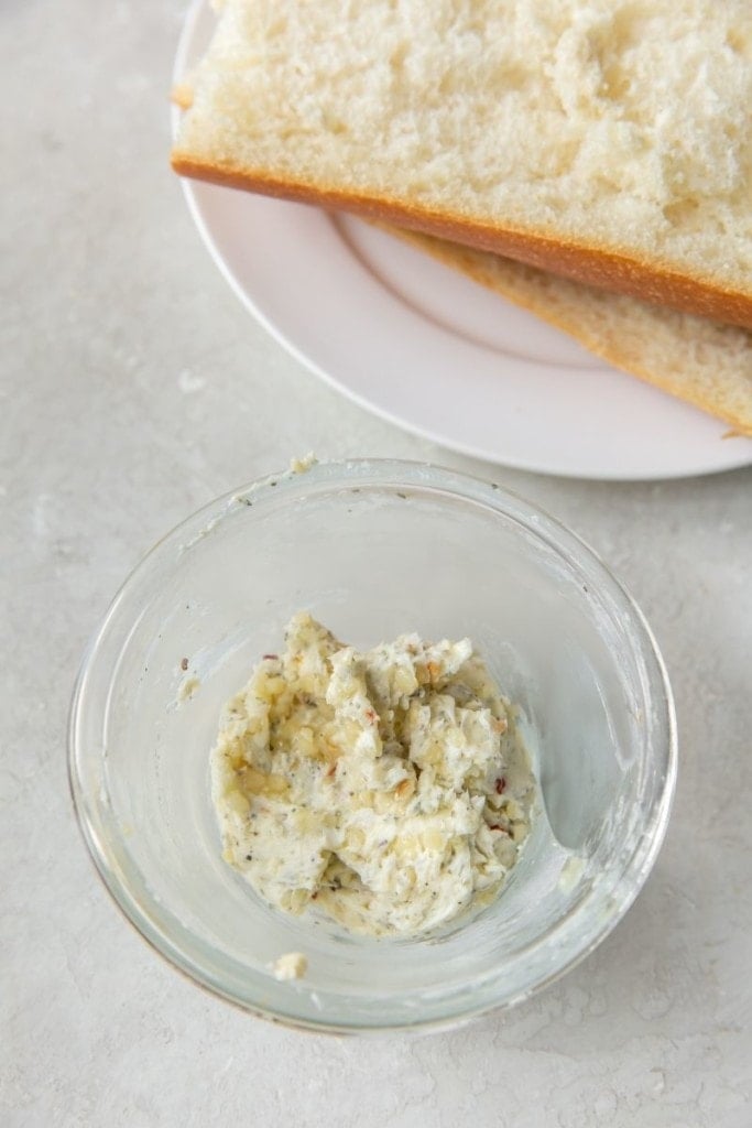
<path id="1" fill-rule="evenodd" d="M 537 314 L 614 368 L 724 420 L 733 434 L 752 438 L 747 329 L 609 293 L 446 239 L 384 229 Z"/>

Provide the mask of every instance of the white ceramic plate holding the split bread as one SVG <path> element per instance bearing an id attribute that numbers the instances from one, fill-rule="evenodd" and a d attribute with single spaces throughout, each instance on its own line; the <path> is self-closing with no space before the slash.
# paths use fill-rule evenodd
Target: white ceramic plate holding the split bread
<path id="1" fill-rule="evenodd" d="M 176 76 L 214 16 L 188 14 Z M 752 441 L 605 365 L 469 279 L 352 217 L 185 182 L 241 301 L 312 372 L 462 453 L 585 478 L 667 478 L 752 464 Z"/>

